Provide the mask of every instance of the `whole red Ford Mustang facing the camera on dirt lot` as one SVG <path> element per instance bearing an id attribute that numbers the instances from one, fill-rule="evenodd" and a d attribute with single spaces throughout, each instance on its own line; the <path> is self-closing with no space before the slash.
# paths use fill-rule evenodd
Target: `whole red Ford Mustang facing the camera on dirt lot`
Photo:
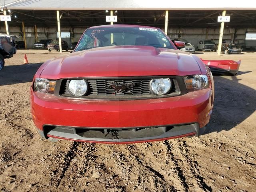
<path id="1" fill-rule="evenodd" d="M 86 29 L 74 52 L 46 61 L 30 91 L 43 138 L 136 143 L 198 136 L 210 120 L 209 68 L 162 30 Z"/>

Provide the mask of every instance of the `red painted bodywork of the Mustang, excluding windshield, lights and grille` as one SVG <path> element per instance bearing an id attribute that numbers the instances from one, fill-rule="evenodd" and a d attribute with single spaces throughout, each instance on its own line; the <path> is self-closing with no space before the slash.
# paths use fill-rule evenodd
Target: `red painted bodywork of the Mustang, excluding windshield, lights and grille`
<path id="1" fill-rule="evenodd" d="M 34 80 L 57 80 L 57 92 L 37 92 L 33 86 L 30 90 L 32 117 L 40 134 L 44 138 L 123 144 L 202 134 L 213 108 L 212 75 L 200 58 L 175 49 L 108 46 L 48 60 L 38 69 Z M 194 74 L 207 75 L 210 86 L 187 92 L 182 77 Z M 58 90 L 63 79 L 107 81 L 138 77 L 142 82 L 155 77 L 174 78 L 179 93 L 108 100 L 61 96 Z"/>

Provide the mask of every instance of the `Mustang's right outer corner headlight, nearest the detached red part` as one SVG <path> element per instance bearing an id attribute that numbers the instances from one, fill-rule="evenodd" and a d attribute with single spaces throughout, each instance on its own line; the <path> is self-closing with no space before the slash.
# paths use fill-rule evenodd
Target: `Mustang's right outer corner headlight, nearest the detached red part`
<path id="1" fill-rule="evenodd" d="M 210 86 L 207 75 L 194 75 L 183 77 L 188 92 L 205 89 Z"/>

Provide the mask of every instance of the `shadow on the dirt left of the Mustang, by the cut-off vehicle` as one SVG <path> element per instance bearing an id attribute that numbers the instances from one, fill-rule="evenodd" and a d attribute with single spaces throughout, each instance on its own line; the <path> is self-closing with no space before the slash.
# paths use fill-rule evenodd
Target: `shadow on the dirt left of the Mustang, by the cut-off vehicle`
<path id="1" fill-rule="evenodd" d="M 32 82 L 34 74 L 43 63 L 8 65 L 0 71 L 0 86 Z"/>

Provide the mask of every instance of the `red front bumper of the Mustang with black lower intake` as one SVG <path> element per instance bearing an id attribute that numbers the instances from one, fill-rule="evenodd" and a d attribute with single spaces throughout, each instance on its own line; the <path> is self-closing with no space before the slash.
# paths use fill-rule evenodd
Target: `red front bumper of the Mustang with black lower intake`
<path id="1" fill-rule="evenodd" d="M 35 125 L 47 137 L 134 143 L 199 135 L 212 112 L 210 88 L 146 100 L 74 100 L 33 92 Z"/>

